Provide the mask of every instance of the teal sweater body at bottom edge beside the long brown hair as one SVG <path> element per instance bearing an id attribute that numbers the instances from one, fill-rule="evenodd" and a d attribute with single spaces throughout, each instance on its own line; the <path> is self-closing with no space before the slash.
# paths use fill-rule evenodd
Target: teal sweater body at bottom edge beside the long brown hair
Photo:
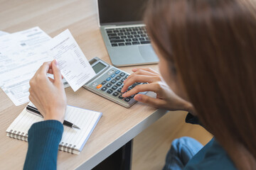
<path id="1" fill-rule="evenodd" d="M 236 169 L 227 152 L 213 138 L 189 162 L 188 169 Z"/>

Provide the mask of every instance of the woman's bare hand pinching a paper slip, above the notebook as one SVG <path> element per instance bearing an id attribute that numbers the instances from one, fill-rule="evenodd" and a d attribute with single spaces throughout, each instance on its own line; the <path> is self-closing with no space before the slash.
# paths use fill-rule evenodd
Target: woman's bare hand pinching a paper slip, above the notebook
<path id="1" fill-rule="evenodd" d="M 54 79 L 50 79 L 47 73 L 53 74 Z M 29 84 L 29 100 L 38 108 L 43 118 L 63 123 L 67 98 L 56 61 L 43 63 Z"/>

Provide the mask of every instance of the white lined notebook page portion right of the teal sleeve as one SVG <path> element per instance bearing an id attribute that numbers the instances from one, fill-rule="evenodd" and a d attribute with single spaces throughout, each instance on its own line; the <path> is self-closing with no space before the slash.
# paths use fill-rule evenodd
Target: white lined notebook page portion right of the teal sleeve
<path id="1" fill-rule="evenodd" d="M 68 106 L 66 113 L 65 120 L 77 125 L 80 130 L 64 126 L 63 138 L 60 143 L 75 145 L 75 149 L 81 151 L 102 113 L 73 106 Z"/>

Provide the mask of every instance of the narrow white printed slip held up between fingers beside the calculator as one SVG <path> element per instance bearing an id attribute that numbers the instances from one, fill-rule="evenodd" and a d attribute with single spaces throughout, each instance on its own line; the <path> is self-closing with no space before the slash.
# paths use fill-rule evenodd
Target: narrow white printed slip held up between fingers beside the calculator
<path id="1" fill-rule="evenodd" d="M 48 55 L 57 61 L 61 74 L 73 91 L 96 75 L 69 30 L 50 40 L 46 47 Z"/>

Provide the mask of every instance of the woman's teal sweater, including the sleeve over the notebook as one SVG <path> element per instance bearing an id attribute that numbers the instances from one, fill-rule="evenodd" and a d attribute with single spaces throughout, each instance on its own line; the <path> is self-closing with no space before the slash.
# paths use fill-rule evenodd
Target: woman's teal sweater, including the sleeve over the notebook
<path id="1" fill-rule="evenodd" d="M 198 120 L 188 113 L 187 123 Z M 57 120 L 35 123 L 28 131 L 28 152 L 23 169 L 56 169 L 58 145 L 63 135 L 63 125 Z M 185 166 L 193 169 L 235 169 L 233 162 L 213 138 Z"/>

